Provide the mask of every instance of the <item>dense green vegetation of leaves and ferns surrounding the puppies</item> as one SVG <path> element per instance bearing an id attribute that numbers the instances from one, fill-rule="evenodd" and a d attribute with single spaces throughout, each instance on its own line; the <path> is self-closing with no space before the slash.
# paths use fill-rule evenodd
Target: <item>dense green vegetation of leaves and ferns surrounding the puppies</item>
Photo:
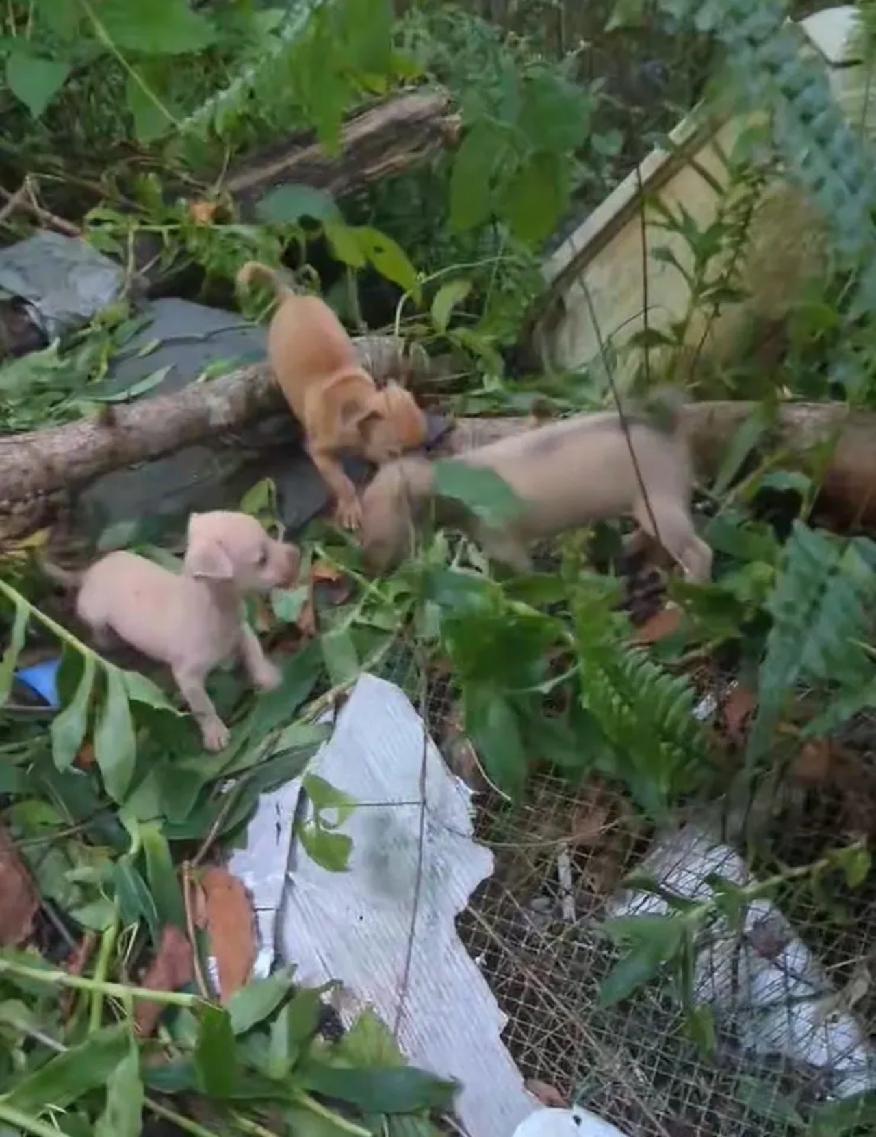
<path id="1" fill-rule="evenodd" d="M 541 34 L 549 6 L 534 6 L 511 35 L 462 6 L 404 7 L 397 16 L 389 0 L 7 0 L 0 181 L 9 198 L 27 177 L 39 197 L 30 213 L 2 210 L 6 235 L 24 233 L 34 215 L 60 214 L 130 268 L 149 240 L 159 276 L 193 268 L 197 293 L 215 300 L 230 299 L 244 259 L 285 259 L 352 326 L 376 310 L 368 323 L 394 322 L 428 350 L 467 358 L 454 409 L 522 412 L 536 397 L 554 413 L 608 405 L 629 352 L 640 392 L 668 377 L 694 397 L 753 398 L 757 410 L 702 487 L 715 579 L 670 581 L 677 619 L 649 637 L 624 603 L 617 526 L 565 538 L 547 550 L 544 571 L 514 579 L 470 542 L 426 534 L 415 558 L 376 581 L 354 542 L 314 526 L 303 579 L 343 581 L 340 601 L 319 606 L 319 634 L 307 644 L 297 629 L 309 583 L 255 614 L 274 646 L 295 650 L 267 696 L 253 699 L 231 673 L 215 677 L 234 728 L 227 750 L 206 757 L 152 679 L 110 663 L 50 614 L 27 567 L 40 537 L 5 549 L 0 698 L 14 690 L 28 645 L 62 653 L 62 711 L 3 712 L 3 823 L 48 914 L 27 952 L 0 955 L 0 1122 L 10 1132 L 133 1135 L 144 1111 L 201 1135 L 434 1131 L 429 1118 L 450 1109 L 452 1087 L 402 1071 L 372 1015 L 327 1041 L 318 993 L 297 989 L 287 971 L 249 984 L 224 1010 L 194 985 L 161 995 L 175 1014 L 159 1036 L 134 1031 L 139 961 L 159 951 L 164 929 L 192 932 L 190 872 L 241 837 L 260 794 L 306 770 L 326 735 L 320 713 L 362 671 L 404 659 L 411 694 L 448 677 L 497 792 L 519 799 L 545 769 L 573 785 L 598 777 L 629 797 L 646 827 L 703 806 L 720 813 L 739 795 L 754 802 L 801 746 L 835 745 L 876 704 L 876 545 L 815 512 L 826 453 L 792 463 L 773 443 L 781 402 L 870 408 L 876 374 L 870 144 L 833 102 L 819 65 L 801 59 L 787 6 L 620 0 L 600 13 L 611 35 L 629 35 L 631 52 L 643 27 L 661 42 L 684 36 L 712 66 L 707 109 L 757 110 L 768 123 L 720 156 L 720 177 L 703 173 L 718 200 L 714 221 L 698 222 L 684 204 L 648 204 L 667 242 L 652 255 L 684 276 L 686 312 L 668 326 L 646 317 L 626 345 L 607 340 L 593 368 L 575 375 L 522 374 L 508 351 L 541 287 L 544 242 L 662 138 L 675 117 L 669 92 L 648 130 L 642 114 L 620 119 L 623 92 L 587 73 L 586 49 Z M 874 6 L 859 7 L 871 58 Z M 224 192 L 225 169 L 258 160 L 291 131 L 311 128 L 332 149 L 345 114 L 403 84 L 439 82 L 459 109 L 460 142 L 427 168 L 342 201 L 282 186 L 260 199 L 255 221 Z M 778 175 L 820 216 L 829 267 L 785 314 L 771 371 L 742 351 L 716 365 L 708 345 L 717 322 L 757 306 L 745 249 Z M 92 413 L 135 327 L 123 304 L 73 339 L 6 363 L 5 431 Z M 145 374 L 124 397 L 142 397 L 162 377 Z M 500 511 L 506 488 L 469 474 L 457 470 L 453 495 Z M 269 482 L 242 507 L 278 525 Z M 133 547 L 168 556 L 144 540 Z M 751 723 L 729 746 L 693 713 L 716 671 L 750 694 Z M 306 788 L 314 812 L 301 841 L 343 871 L 342 820 L 354 803 L 324 782 Z M 761 883 L 712 880 L 714 895 L 695 904 L 664 890 L 665 915 L 607 926 L 624 954 L 604 1002 L 668 974 L 693 1037 L 714 1051 L 710 1012 L 692 997 L 704 935 L 717 920 L 739 926 L 746 905 L 791 885 L 818 901 L 837 873 L 853 911 L 856 894 L 873 885 L 874 832 L 870 818 L 866 832 L 834 832 L 829 847 L 787 864 L 768 825 L 752 822 L 744 837 Z M 82 974 L 58 965 L 68 953 L 53 924 L 67 947 L 83 937 L 97 944 Z M 202 953 L 200 931 L 192 939 Z M 871 1107 L 861 1105 L 801 1105 L 796 1128 L 814 1137 L 870 1131 Z"/>

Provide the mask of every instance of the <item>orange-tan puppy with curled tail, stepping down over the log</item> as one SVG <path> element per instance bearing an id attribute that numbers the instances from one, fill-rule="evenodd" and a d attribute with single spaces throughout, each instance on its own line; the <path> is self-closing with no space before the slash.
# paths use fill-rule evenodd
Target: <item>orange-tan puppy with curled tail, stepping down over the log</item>
<path id="1" fill-rule="evenodd" d="M 278 300 L 268 329 L 268 358 L 280 388 L 304 428 L 314 465 L 334 495 L 342 525 L 356 529 L 361 505 L 343 471 L 341 454 L 359 454 L 377 466 L 426 440 L 426 416 L 398 383 L 383 389 L 362 370 L 350 337 L 317 296 L 298 296 L 273 268 L 248 262 L 241 284 L 262 281 Z"/>

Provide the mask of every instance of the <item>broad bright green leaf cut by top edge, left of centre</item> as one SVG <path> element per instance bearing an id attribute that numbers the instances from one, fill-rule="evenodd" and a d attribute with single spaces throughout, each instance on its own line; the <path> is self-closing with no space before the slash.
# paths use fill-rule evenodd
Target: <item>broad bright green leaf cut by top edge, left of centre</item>
<path id="1" fill-rule="evenodd" d="M 187 0 L 101 0 L 94 11 L 100 38 L 123 51 L 183 56 L 216 42 L 209 19 L 193 11 Z"/>

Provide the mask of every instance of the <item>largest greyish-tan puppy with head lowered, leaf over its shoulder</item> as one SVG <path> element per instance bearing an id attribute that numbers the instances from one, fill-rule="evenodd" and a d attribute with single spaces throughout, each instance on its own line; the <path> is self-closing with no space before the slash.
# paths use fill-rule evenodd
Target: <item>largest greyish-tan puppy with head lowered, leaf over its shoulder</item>
<path id="1" fill-rule="evenodd" d="M 576 415 L 460 455 L 459 462 L 494 470 L 522 499 L 522 512 L 497 528 L 459 504 L 436 500 L 437 520 L 466 529 L 489 556 L 526 572 L 532 541 L 632 516 L 691 579 L 708 580 L 712 554 L 691 521 L 691 466 L 677 408 L 667 407 L 666 415 L 665 426 L 626 418 L 646 500 L 620 418 L 609 412 Z M 362 496 L 362 543 L 372 568 L 384 571 L 410 553 L 414 528 L 434 498 L 433 482 L 433 465 L 422 457 L 377 472 Z"/>

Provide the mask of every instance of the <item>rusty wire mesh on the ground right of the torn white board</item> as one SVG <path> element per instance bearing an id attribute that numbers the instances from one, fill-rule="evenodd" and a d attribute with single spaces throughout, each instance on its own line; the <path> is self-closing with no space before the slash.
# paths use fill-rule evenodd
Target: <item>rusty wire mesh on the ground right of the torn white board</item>
<path id="1" fill-rule="evenodd" d="M 429 732 L 449 742 L 459 728 L 452 682 L 428 684 L 403 649 L 382 674 L 415 705 L 426 680 Z M 809 769 L 798 763 L 770 790 L 766 828 L 726 845 L 685 829 L 681 811 L 677 829 L 656 831 L 595 775 L 573 788 L 540 774 L 517 806 L 476 798 L 476 835 L 495 869 L 458 927 L 508 1016 L 503 1041 L 523 1076 L 629 1137 L 790 1137 L 826 1101 L 876 1085 L 876 875 L 852 888 L 839 870 L 793 874 L 873 832 L 875 728 L 858 720 L 817 779 L 811 756 Z M 708 846 L 704 866 L 685 833 Z M 685 874 L 703 895 L 709 869 L 787 878 L 752 901 L 740 932 L 714 919 L 698 936 L 693 990 L 714 1022 L 706 1044 L 671 971 L 600 1002 L 619 957 L 603 923 L 624 911 L 623 881 L 637 869 L 679 895 Z"/>

